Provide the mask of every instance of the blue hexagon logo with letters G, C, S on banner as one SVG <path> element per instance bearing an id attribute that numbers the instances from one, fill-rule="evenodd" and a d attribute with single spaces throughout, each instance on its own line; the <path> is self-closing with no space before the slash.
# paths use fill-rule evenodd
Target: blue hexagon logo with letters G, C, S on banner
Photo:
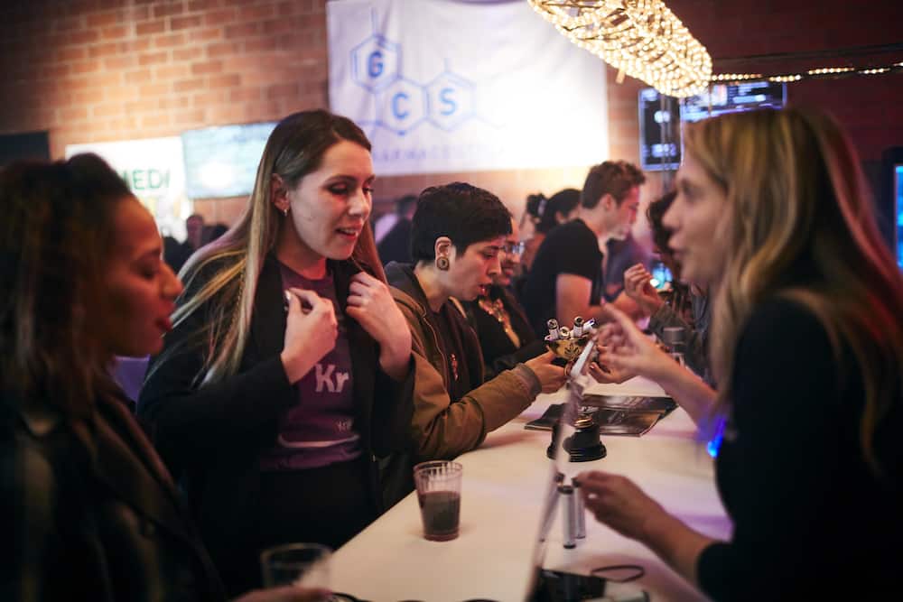
<path id="1" fill-rule="evenodd" d="M 377 105 L 374 125 L 405 135 L 424 123 L 451 132 L 476 116 L 476 86 L 445 70 L 425 83 L 402 73 L 401 45 L 374 33 L 351 50 L 351 77 L 372 94 Z"/>

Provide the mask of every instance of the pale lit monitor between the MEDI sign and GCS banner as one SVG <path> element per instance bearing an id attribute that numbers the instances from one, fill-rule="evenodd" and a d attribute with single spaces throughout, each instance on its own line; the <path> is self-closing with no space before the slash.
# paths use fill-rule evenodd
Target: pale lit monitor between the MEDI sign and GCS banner
<path id="1" fill-rule="evenodd" d="M 251 193 L 257 164 L 275 122 L 221 125 L 182 133 L 185 188 L 191 199 Z"/>

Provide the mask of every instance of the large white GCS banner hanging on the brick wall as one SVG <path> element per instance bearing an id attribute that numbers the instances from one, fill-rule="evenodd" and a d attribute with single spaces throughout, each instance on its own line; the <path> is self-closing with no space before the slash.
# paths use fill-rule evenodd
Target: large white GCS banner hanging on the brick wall
<path id="1" fill-rule="evenodd" d="M 327 23 L 330 107 L 378 174 L 608 158 L 604 63 L 525 0 L 333 0 Z"/>

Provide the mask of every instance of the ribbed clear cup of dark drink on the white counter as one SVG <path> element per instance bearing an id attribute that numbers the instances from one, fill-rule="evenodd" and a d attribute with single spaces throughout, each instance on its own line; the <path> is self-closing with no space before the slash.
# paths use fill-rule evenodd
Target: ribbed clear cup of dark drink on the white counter
<path id="1" fill-rule="evenodd" d="M 414 467 L 424 538 L 431 542 L 448 542 L 458 537 L 463 470 L 458 462 L 447 460 L 422 462 Z"/>

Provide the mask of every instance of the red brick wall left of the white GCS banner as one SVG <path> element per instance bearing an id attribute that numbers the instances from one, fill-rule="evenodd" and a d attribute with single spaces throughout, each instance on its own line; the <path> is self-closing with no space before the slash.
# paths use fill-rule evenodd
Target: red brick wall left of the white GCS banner
<path id="1" fill-rule="evenodd" d="M 179 134 L 327 106 L 324 0 L 6 0 L 0 132 L 67 144 Z M 200 201 L 231 222 L 243 199 Z"/>

